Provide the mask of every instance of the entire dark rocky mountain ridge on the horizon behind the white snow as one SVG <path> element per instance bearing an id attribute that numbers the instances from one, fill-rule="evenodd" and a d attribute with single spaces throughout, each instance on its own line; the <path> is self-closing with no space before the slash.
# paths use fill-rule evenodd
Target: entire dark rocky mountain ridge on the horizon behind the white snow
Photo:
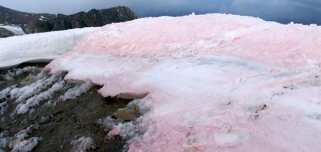
<path id="1" fill-rule="evenodd" d="M 101 10 L 92 9 L 88 12 L 82 11 L 71 15 L 26 13 L 0 6 L 0 24 L 19 25 L 27 34 L 83 27 L 98 27 L 134 19 L 137 19 L 137 15 L 125 6 Z"/>

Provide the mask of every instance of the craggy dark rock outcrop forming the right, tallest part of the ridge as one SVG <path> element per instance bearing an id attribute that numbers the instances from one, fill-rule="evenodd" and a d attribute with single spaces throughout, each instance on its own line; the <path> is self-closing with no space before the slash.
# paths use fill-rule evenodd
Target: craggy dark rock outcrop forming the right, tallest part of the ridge
<path id="1" fill-rule="evenodd" d="M 110 23 L 125 22 L 137 19 L 137 16 L 127 7 L 115 7 L 104 10 L 91 10 L 88 13 L 63 16 L 59 15 L 53 21 L 53 30 L 65 30 L 71 28 L 97 27 Z"/>

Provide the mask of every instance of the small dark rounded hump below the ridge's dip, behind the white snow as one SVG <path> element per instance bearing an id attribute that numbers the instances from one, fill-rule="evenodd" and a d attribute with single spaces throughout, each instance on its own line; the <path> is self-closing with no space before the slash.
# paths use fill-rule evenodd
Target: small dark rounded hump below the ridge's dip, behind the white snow
<path id="1" fill-rule="evenodd" d="M 49 21 L 31 21 L 29 24 L 22 26 L 23 31 L 26 34 L 30 33 L 41 33 L 53 30 L 53 25 Z"/>

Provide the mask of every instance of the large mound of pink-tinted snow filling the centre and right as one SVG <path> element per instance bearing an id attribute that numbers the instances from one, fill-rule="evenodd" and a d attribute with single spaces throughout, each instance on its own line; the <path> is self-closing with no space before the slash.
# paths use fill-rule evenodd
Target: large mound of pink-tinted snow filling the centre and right
<path id="1" fill-rule="evenodd" d="M 143 18 L 98 29 L 47 68 L 150 107 L 129 151 L 320 151 L 320 49 L 316 25 Z"/>

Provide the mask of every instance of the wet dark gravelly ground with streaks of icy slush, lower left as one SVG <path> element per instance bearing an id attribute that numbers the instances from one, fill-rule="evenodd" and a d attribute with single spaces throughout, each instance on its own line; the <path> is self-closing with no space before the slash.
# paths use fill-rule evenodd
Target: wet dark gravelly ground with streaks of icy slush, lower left
<path id="1" fill-rule="evenodd" d="M 128 138 L 107 136 L 112 128 L 106 125 L 113 124 L 97 120 L 112 117 L 117 123 L 133 122 L 140 116 L 138 106 L 128 106 L 131 100 L 101 96 L 97 93 L 101 86 L 66 82 L 66 72 L 51 75 L 43 70 L 44 65 L 0 70 L 0 149 L 126 149 Z"/>

